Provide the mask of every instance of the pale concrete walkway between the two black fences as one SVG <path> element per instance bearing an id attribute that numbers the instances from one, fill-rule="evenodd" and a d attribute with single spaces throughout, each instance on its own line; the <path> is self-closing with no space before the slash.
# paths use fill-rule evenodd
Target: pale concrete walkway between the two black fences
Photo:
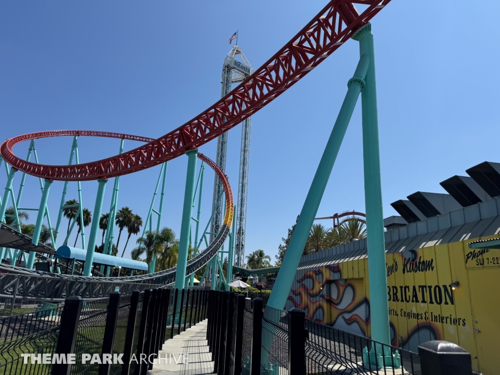
<path id="1" fill-rule="evenodd" d="M 166 356 L 166 363 L 165 363 Z M 213 372 L 213 362 L 206 342 L 206 320 L 163 343 L 160 363 L 153 364 L 148 375 L 204 375 Z M 158 358 L 155 359 L 158 361 Z M 176 363 L 177 362 L 177 363 Z"/>

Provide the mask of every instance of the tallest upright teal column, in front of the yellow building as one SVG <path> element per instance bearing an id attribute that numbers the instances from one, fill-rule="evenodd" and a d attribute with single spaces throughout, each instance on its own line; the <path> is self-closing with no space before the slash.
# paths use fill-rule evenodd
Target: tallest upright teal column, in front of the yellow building
<path id="1" fill-rule="evenodd" d="M 364 204 L 366 212 L 366 245 L 370 291 L 371 338 L 390 344 L 385 239 L 383 233 L 382 187 L 378 145 L 378 115 L 375 85 L 375 53 L 371 24 L 367 23 L 352 36 L 359 41 L 359 54 L 369 56 L 368 70 L 361 92 L 363 128 Z"/>

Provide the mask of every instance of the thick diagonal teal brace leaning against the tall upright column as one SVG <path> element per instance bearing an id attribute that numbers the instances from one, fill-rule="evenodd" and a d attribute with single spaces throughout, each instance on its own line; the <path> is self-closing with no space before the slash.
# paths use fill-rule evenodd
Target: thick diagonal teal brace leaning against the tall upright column
<path id="1" fill-rule="evenodd" d="M 269 300 L 267 301 L 267 306 L 282 310 L 286 303 L 286 298 L 290 292 L 300 256 L 302 255 L 305 242 L 307 241 L 319 203 L 321 202 L 324 189 L 326 188 L 338 149 L 340 148 L 345 131 L 347 130 L 347 125 L 349 124 L 352 111 L 356 105 L 359 92 L 364 86 L 363 77 L 366 74 L 368 62 L 368 56 L 362 55 L 357 64 L 354 76 L 349 79 L 347 83 L 347 93 L 345 94 L 344 101 L 338 112 L 337 119 L 333 125 L 321 160 L 319 161 L 316 174 L 312 179 L 309 192 L 307 193 L 304 205 L 300 211 L 300 216 L 295 225 L 295 230 L 291 236 L 283 262 L 276 276 L 276 281 L 272 287 Z"/>

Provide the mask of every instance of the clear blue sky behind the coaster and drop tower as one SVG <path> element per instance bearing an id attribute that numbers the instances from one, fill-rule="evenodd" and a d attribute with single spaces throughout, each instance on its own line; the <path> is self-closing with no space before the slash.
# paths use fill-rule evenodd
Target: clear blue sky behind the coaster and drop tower
<path id="1" fill-rule="evenodd" d="M 227 39 L 236 29 L 238 44 L 258 67 L 325 4 L 2 1 L 1 139 L 56 129 L 165 134 L 219 98 L 222 62 L 231 47 Z M 498 15 L 500 2 L 493 0 L 473 6 L 393 0 L 372 20 L 385 217 L 395 214 L 390 203 L 397 199 L 418 190 L 444 192 L 440 181 L 484 160 L 500 160 Z M 246 254 L 261 248 L 274 260 L 301 209 L 357 58 L 358 46 L 349 40 L 253 116 Z M 226 174 L 233 191 L 240 132 L 239 125 L 229 131 Z M 358 103 L 318 215 L 364 211 L 361 144 Z M 67 163 L 70 145 L 69 137 L 36 141 L 39 161 Z M 125 142 L 127 149 L 137 145 Z M 116 154 L 119 140 L 81 137 L 79 146 L 80 161 L 87 162 Z M 214 158 L 215 146 L 212 141 L 200 152 Z M 21 143 L 14 151 L 25 156 L 27 147 Z M 185 156 L 168 163 L 161 225 L 176 233 L 186 163 Z M 145 218 L 158 173 L 154 167 L 121 177 L 119 205 Z M 205 177 L 203 224 L 211 209 L 213 172 Z M 0 186 L 5 180 L 2 165 Z M 62 185 L 56 181 L 50 191 L 53 225 Z M 82 183 L 83 205 L 90 210 L 96 189 L 95 181 Z M 111 190 L 108 183 L 103 212 Z M 38 206 L 40 196 L 38 181 L 28 176 L 21 206 Z M 70 183 L 67 198 L 75 197 L 76 183 Z M 35 219 L 32 213 L 29 221 Z M 63 220 L 61 227 L 66 225 Z M 131 241 L 126 253 L 135 237 Z"/>

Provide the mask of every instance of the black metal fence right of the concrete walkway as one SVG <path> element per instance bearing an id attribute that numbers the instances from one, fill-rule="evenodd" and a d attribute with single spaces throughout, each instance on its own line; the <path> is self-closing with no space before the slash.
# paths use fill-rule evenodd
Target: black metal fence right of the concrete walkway
<path id="1" fill-rule="evenodd" d="M 305 319 L 304 311 L 210 291 L 207 340 L 218 375 L 411 374 L 418 354 Z"/>

